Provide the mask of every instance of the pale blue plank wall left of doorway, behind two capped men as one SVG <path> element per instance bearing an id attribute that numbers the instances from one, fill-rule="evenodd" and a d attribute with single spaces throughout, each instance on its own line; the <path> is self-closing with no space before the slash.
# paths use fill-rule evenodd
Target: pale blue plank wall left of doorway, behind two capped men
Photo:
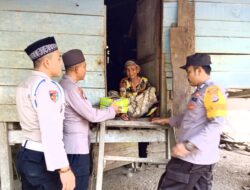
<path id="1" fill-rule="evenodd" d="M 0 1 L 0 121 L 18 121 L 16 86 L 33 68 L 23 50 L 47 36 L 55 36 L 62 53 L 72 48 L 84 52 L 87 74 L 80 85 L 93 104 L 99 102 L 106 87 L 105 14 L 103 0 Z"/>

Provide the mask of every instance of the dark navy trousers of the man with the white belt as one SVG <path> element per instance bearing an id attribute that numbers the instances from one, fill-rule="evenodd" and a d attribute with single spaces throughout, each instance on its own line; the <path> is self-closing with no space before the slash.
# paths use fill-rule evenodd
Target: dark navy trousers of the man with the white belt
<path id="1" fill-rule="evenodd" d="M 16 165 L 22 190 L 62 189 L 58 172 L 47 171 L 43 152 L 22 147 L 17 154 Z"/>

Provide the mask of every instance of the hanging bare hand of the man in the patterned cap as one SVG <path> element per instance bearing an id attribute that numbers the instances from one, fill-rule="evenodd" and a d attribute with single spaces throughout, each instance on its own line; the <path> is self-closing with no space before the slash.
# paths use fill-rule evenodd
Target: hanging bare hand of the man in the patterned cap
<path id="1" fill-rule="evenodd" d="M 62 182 L 62 190 L 74 190 L 76 186 L 75 176 L 71 170 L 60 173 L 60 179 Z"/>

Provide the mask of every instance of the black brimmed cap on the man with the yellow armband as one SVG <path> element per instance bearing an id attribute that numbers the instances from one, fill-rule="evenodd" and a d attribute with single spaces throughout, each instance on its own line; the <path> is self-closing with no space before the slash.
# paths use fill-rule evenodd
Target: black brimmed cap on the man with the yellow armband
<path id="1" fill-rule="evenodd" d="M 210 56 L 205 53 L 196 53 L 190 55 L 186 59 L 186 64 L 181 66 L 181 69 L 187 69 L 189 66 L 208 66 L 212 64 Z"/>

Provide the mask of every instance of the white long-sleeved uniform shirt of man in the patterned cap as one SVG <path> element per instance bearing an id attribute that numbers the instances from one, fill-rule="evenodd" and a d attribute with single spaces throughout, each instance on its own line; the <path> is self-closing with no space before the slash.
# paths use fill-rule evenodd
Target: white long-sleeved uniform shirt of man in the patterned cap
<path id="1" fill-rule="evenodd" d="M 24 137 L 29 140 L 26 147 L 44 152 L 49 171 L 68 166 L 62 141 L 64 93 L 60 85 L 45 73 L 33 71 L 18 86 L 16 103 Z"/>

